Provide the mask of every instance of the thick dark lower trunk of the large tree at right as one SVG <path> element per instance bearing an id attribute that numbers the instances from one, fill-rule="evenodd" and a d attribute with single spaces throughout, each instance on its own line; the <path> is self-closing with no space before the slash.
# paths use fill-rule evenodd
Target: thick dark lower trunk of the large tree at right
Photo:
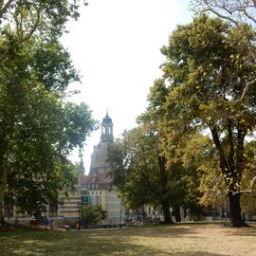
<path id="1" fill-rule="evenodd" d="M 233 194 L 229 192 L 229 223 L 228 227 L 247 227 L 248 225 L 243 221 L 240 207 L 240 193 Z"/>

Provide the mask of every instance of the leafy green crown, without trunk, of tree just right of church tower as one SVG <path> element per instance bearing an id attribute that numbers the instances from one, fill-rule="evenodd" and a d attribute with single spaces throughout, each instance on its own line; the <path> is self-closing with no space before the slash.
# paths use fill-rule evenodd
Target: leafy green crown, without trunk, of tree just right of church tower
<path id="1" fill-rule="evenodd" d="M 127 207 L 137 209 L 152 202 L 158 192 L 154 141 L 143 137 L 141 129 L 126 131 L 123 139 L 111 145 L 107 161 L 111 166 L 113 185 L 126 198 Z"/>

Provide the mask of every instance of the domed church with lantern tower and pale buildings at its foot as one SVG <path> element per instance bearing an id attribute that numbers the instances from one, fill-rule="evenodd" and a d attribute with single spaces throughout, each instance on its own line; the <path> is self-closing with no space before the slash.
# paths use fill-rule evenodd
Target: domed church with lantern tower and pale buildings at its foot
<path id="1" fill-rule="evenodd" d="M 101 122 L 101 140 L 94 146 L 91 155 L 90 172 L 81 178 L 81 196 L 82 205 L 101 205 L 103 210 L 107 210 L 106 224 L 119 224 L 124 217 L 124 210 L 121 199 L 110 186 L 111 178 L 106 162 L 107 148 L 112 143 L 113 122 L 107 112 Z"/>

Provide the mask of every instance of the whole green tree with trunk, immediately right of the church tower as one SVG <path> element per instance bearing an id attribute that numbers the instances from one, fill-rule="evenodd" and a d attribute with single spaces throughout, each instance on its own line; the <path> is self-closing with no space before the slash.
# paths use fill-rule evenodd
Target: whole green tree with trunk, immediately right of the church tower
<path id="1" fill-rule="evenodd" d="M 128 208 L 160 205 L 164 222 L 172 223 L 165 162 L 156 152 L 154 135 L 143 127 L 126 131 L 122 140 L 109 147 L 107 162 L 113 185 L 125 198 Z"/>

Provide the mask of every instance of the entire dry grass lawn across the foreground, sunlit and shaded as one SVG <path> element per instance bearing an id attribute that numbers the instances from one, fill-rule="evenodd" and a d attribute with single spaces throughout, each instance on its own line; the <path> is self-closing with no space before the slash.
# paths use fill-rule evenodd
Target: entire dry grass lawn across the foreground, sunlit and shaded
<path id="1" fill-rule="evenodd" d="M 0 232 L 0 255 L 256 255 L 256 224 L 176 224 L 108 230 Z"/>

